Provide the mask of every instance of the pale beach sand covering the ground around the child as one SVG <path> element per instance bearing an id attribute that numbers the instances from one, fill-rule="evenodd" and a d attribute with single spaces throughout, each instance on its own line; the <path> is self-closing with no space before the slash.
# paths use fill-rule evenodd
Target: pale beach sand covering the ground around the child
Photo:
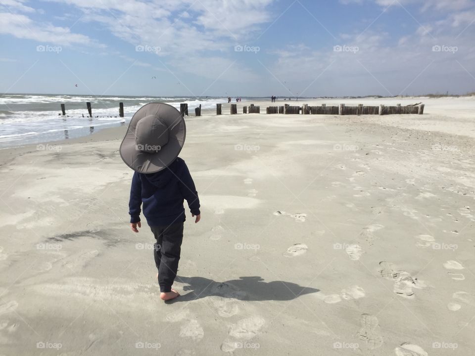
<path id="1" fill-rule="evenodd" d="M 0 150 L 0 355 L 472 355 L 475 99 L 334 100 L 406 101 L 426 114 L 187 118 L 172 303 L 125 127 Z"/>

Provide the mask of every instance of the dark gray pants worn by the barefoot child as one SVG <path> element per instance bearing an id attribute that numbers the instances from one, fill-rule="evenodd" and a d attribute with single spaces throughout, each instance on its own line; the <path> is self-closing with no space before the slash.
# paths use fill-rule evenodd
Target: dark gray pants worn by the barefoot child
<path id="1" fill-rule="evenodd" d="M 183 241 L 183 222 L 167 226 L 150 226 L 157 242 L 153 249 L 158 269 L 160 292 L 170 292 L 177 276 L 178 261 Z"/>

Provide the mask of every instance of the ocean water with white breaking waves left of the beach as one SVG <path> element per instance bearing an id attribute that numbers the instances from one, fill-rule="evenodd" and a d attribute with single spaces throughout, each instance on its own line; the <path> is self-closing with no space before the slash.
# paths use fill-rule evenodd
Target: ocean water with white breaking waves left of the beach
<path id="1" fill-rule="evenodd" d="M 244 98 L 243 98 L 244 100 Z M 88 118 L 86 102 L 91 102 L 93 117 Z M 124 117 L 119 117 L 119 102 Z M 0 148 L 54 141 L 93 134 L 114 126 L 128 125 L 135 112 L 149 102 L 168 103 L 180 109 L 188 103 L 190 115 L 201 109 L 225 103 L 224 97 L 159 97 L 107 95 L 3 94 L 0 96 Z M 66 116 L 61 116 L 61 105 Z M 83 117 L 84 115 L 84 117 Z"/>

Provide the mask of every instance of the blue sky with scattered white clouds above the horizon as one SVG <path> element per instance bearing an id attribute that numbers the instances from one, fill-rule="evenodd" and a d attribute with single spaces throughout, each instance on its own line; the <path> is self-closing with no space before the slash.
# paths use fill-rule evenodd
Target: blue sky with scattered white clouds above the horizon
<path id="1" fill-rule="evenodd" d="M 0 92 L 475 91 L 475 0 L 0 0 Z"/>

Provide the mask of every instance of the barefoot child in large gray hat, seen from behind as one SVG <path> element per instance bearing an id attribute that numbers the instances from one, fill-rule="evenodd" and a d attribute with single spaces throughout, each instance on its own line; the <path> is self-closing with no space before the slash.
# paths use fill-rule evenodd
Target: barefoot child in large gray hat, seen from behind
<path id="1" fill-rule="evenodd" d="M 177 276 L 185 222 L 184 200 L 199 222 L 198 193 L 184 160 L 178 157 L 185 143 L 185 120 L 173 106 L 149 103 L 132 117 L 120 145 L 120 156 L 132 168 L 129 214 L 132 231 L 139 232 L 141 206 L 155 236 L 153 256 L 160 298 L 177 298 L 172 288 Z"/>

